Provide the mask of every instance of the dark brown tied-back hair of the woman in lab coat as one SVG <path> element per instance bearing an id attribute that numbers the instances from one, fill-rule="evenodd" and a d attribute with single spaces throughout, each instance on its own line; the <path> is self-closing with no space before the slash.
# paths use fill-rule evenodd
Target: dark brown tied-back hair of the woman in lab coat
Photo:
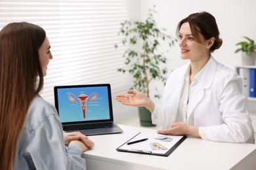
<path id="1" fill-rule="evenodd" d="M 177 26 L 177 35 L 184 22 L 189 23 L 192 35 L 194 35 L 196 41 L 200 42 L 200 33 L 203 35 L 205 40 L 211 39 L 211 37 L 215 38 L 215 42 L 213 43 L 213 46 L 211 46 L 210 52 L 214 52 L 214 50 L 219 49 L 223 44 L 223 40 L 219 37 L 220 33 L 216 20 L 210 13 L 196 12 L 194 14 L 190 14 L 179 22 Z"/>

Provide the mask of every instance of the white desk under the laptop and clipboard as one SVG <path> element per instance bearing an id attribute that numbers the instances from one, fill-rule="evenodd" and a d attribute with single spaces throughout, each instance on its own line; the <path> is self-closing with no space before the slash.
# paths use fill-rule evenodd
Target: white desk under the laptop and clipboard
<path id="1" fill-rule="evenodd" d="M 118 152 L 118 146 L 140 131 L 156 132 L 154 129 L 119 126 L 123 133 L 90 136 L 95 147 L 83 153 L 88 170 L 256 168 L 256 144 L 217 143 L 188 137 L 168 157 Z"/>

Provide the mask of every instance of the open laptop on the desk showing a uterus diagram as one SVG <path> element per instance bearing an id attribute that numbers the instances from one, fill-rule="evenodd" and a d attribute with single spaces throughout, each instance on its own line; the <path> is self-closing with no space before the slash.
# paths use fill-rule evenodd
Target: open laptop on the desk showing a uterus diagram
<path id="1" fill-rule="evenodd" d="M 113 119 L 110 84 L 55 86 L 54 102 L 64 131 L 87 136 L 123 132 Z"/>

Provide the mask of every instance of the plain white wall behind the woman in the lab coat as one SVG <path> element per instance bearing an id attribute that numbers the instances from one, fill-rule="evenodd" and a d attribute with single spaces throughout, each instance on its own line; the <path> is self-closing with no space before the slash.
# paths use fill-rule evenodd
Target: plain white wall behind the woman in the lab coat
<path id="1" fill-rule="evenodd" d="M 223 45 L 219 50 L 213 53 L 217 61 L 235 69 L 235 65 L 240 65 L 240 54 L 235 54 L 236 42 L 242 41 L 242 36 L 250 37 L 256 41 L 256 1 L 255 0 L 133 0 L 135 14 L 137 19 L 146 18 L 148 9 L 156 5 L 158 15 L 154 18 L 160 28 L 167 29 L 169 35 L 175 37 L 177 24 L 194 12 L 206 11 L 217 20 Z M 139 13 L 138 13 L 139 10 Z M 163 49 L 165 51 L 165 49 Z M 177 69 L 187 61 L 180 58 L 179 45 L 176 44 L 169 54 L 169 69 Z M 152 84 L 153 85 L 153 84 Z M 159 84 L 155 84 L 159 86 Z M 154 90 L 154 88 L 152 88 Z M 160 90 L 161 92 L 163 89 Z M 154 99 L 156 101 L 156 99 Z M 160 101 L 156 101 L 158 103 Z M 114 101 L 114 110 L 116 109 L 116 118 L 125 118 L 129 114 L 137 114 L 133 107 L 120 106 Z"/>

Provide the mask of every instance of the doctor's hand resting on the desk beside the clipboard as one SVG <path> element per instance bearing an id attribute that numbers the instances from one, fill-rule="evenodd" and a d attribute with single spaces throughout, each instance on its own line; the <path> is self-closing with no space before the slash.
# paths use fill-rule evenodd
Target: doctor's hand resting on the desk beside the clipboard
<path id="1" fill-rule="evenodd" d="M 164 135 L 191 135 L 193 137 L 200 137 L 198 127 L 190 126 L 182 122 L 176 122 L 172 124 L 169 129 L 159 130 L 158 133 Z"/>

